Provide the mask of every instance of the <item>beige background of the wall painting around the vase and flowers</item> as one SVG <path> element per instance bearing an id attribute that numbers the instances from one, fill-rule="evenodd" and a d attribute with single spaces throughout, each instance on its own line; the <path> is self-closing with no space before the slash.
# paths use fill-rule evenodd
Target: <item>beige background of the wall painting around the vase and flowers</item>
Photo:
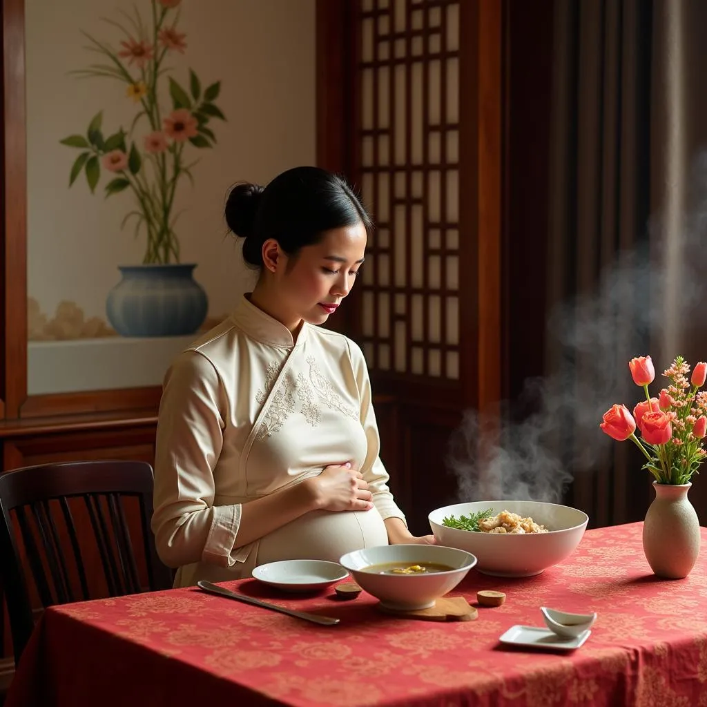
<path id="1" fill-rule="evenodd" d="M 106 136 L 131 124 L 136 111 L 123 83 L 78 79 L 69 71 L 107 62 L 83 49 L 88 42 L 81 30 L 118 47 L 121 33 L 100 18 L 125 23 L 120 8 L 131 11 L 133 5 L 144 18 L 151 13 L 151 0 L 32 0 L 25 5 L 28 296 L 30 319 L 40 322 L 37 331 L 50 331 L 46 322 L 62 302 L 74 303 L 84 320 L 105 321 L 107 293 L 119 281 L 117 265 L 139 264 L 144 255 L 144 237 L 134 240 L 132 228 L 119 228 L 133 208 L 132 193 L 105 199 L 105 174 L 93 196 L 83 175 L 69 189 L 78 151 L 59 144 L 66 136 L 84 134 L 99 110 Z M 204 87 L 221 81 L 216 103 L 228 119 L 209 124 L 218 139 L 215 149 L 190 148 L 192 158 L 200 158 L 192 170 L 195 186 L 183 180 L 175 204 L 175 212 L 183 211 L 177 226 L 181 261 L 198 264 L 194 276 L 208 293 L 209 317 L 221 317 L 254 279 L 240 247 L 226 233 L 228 187 L 240 180 L 267 182 L 286 168 L 315 163 L 315 0 L 182 0 L 180 12 L 177 30 L 186 33 L 187 49 L 184 55 L 170 53 L 170 75 L 185 88 L 189 67 Z M 166 93 L 164 105 L 171 106 Z M 72 308 L 69 304 L 69 312 Z M 59 338 L 92 337 L 94 330 L 84 327 L 83 334 Z M 85 338 L 30 341 L 30 392 L 152 385 L 184 345 L 182 339 L 151 344 L 117 337 L 93 344 Z M 109 351 L 111 346 L 119 348 Z M 121 375 L 111 366 L 115 361 L 122 362 Z M 86 375 L 88 363 L 95 375 Z"/>

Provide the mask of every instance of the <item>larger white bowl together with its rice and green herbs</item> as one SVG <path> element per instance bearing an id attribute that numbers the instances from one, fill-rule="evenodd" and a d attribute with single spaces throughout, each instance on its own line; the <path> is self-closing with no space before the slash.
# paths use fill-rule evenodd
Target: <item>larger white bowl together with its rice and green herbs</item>
<path id="1" fill-rule="evenodd" d="M 575 551 L 589 516 L 541 501 L 474 501 L 436 508 L 428 520 L 438 544 L 474 554 L 479 572 L 530 577 Z"/>

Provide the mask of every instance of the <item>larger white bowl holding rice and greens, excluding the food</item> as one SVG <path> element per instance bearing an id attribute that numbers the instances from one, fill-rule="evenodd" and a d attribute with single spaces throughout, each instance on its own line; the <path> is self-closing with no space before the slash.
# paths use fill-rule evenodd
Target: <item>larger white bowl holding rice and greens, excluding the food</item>
<path id="1" fill-rule="evenodd" d="M 524 535 L 458 530 L 442 525 L 446 516 L 469 515 L 491 508 L 530 516 L 550 532 Z M 456 547 L 477 556 L 477 569 L 498 577 L 530 577 L 570 556 L 580 543 L 589 516 L 577 508 L 540 501 L 474 501 L 436 508 L 428 515 L 432 532 L 440 545 Z"/>

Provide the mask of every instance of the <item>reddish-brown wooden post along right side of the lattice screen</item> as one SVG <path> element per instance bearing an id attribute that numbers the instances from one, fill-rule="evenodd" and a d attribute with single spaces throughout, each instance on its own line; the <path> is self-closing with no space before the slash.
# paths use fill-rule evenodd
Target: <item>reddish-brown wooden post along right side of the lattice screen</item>
<path id="1" fill-rule="evenodd" d="M 462 2 L 460 66 L 460 230 L 475 279 L 462 308 L 462 385 L 467 404 L 486 411 L 501 397 L 502 8 Z"/>

